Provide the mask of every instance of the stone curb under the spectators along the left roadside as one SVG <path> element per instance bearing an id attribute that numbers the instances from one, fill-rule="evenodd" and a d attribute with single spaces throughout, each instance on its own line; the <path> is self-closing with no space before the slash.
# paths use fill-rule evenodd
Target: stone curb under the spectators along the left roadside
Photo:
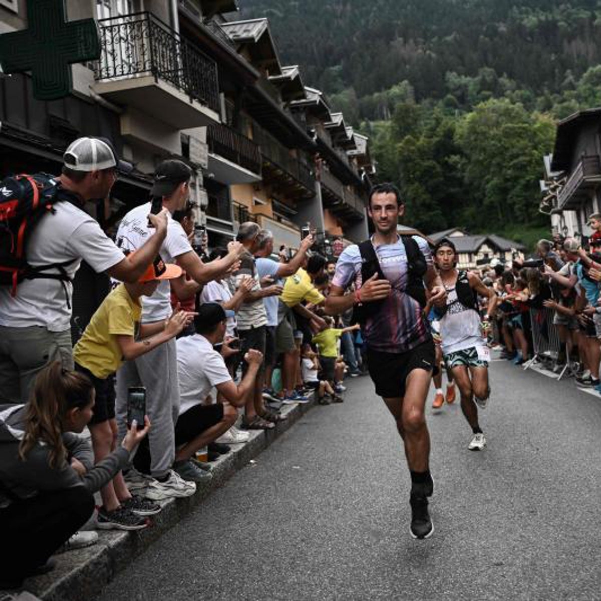
<path id="1" fill-rule="evenodd" d="M 225 484 L 276 438 L 287 432 L 315 404 L 313 398 L 310 403 L 284 405 L 281 412 L 288 417 L 286 421 L 279 422 L 269 431 L 249 430 L 251 438 L 248 442 L 233 445 L 230 453 L 212 463 L 213 479 L 210 483 L 199 487 L 189 498 L 169 499 L 163 505 L 163 510 L 153 518 L 153 525 L 149 528 L 138 532 L 99 530 L 96 545 L 56 555 L 55 569 L 46 575 L 26 579 L 23 588 L 44 601 L 89 601 L 100 594 L 118 572 L 124 570 L 183 517 L 192 513 L 213 490 Z"/>

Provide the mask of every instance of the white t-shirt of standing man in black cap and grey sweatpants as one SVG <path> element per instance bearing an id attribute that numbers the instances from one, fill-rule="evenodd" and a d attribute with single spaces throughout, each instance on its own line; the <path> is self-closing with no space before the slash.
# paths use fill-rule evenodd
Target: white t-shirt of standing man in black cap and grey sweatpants
<path id="1" fill-rule="evenodd" d="M 150 236 L 154 228 L 148 227 L 150 203 L 141 204 L 130 210 L 119 225 L 117 245 L 128 251 L 140 248 Z M 192 246 L 181 224 L 173 221 L 171 213 L 167 214 L 167 235 L 160 247 L 159 254 L 165 263 L 175 263 L 175 258 L 190 252 Z M 171 315 L 171 286 L 168 280 L 160 282 L 152 296 L 145 296 L 142 303 L 142 323 L 160 322 Z"/>

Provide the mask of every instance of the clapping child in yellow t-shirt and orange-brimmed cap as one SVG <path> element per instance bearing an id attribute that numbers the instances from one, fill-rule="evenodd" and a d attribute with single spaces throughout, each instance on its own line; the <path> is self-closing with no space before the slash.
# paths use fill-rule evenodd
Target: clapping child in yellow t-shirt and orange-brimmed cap
<path id="1" fill-rule="evenodd" d="M 194 313 L 175 311 L 169 320 L 139 325 L 141 296 L 151 296 L 163 279 L 178 278 L 182 269 L 165 264 L 160 257 L 148 267 L 135 284 L 119 284 L 105 298 L 73 349 L 75 368 L 85 373 L 96 390 L 96 404 L 90 421 L 90 433 L 96 462 L 115 449 L 115 388 L 112 376 L 124 360 L 144 355 L 179 334 L 194 319 Z M 119 472 L 100 491 L 102 507 L 97 525 L 102 529 L 133 530 L 144 528 L 144 516 L 160 511 L 148 499 L 132 496 Z"/>

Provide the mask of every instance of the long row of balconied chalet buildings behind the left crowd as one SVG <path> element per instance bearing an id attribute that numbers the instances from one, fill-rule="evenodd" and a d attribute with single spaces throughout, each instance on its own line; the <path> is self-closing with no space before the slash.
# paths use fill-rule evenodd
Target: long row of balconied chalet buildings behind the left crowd
<path id="1" fill-rule="evenodd" d="M 235 0 L 64 4 L 69 21 L 96 19 L 100 60 L 73 65 L 59 100 L 36 100 L 29 74 L 0 78 L 3 174 L 56 173 L 70 141 L 105 135 L 135 165 L 115 185 L 112 221 L 146 200 L 160 160 L 179 157 L 211 246 L 248 219 L 276 245 L 297 246 L 307 223 L 324 245 L 367 236 L 368 140 L 281 64 L 267 19 L 232 19 Z M 26 29 L 26 9 L 2 0 L 0 33 Z"/>

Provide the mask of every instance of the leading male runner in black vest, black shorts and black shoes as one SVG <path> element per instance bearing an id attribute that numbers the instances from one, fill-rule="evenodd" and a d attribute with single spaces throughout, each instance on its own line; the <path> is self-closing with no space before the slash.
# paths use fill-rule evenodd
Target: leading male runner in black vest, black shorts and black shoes
<path id="1" fill-rule="evenodd" d="M 411 474 L 410 533 L 413 538 L 427 538 L 434 531 L 427 499 L 432 495 L 433 481 L 424 407 L 435 352 L 423 316 L 424 282 L 435 304 L 444 305 L 446 293 L 426 240 L 418 236 L 401 239 L 397 234 L 404 208 L 395 186 L 386 183 L 372 189 L 367 210 L 375 234 L 370 241 L 351 245 L 340 255 L 326 313 L 339 314 L 353 305 L 361 306 L 370 376 L 376 394 L 397 423 Z M 374 264 L 374 275 L 369 278 L 364 277 L 364 252 L 371 254 L 369 263 Z M 344 289 L 353 282 L 355 293 L 345 296 Z"/>

